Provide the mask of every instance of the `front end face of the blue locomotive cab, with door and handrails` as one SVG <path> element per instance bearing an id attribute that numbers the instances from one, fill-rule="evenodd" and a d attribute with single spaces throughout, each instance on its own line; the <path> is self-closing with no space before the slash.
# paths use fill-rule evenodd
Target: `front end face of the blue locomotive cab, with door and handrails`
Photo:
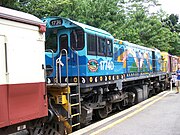
<path id="1" fill-rule="evenodd" d="M 68 76 L 78 74 L 77 51 L 84 48 L 84 31 L 63 18 L 48 18 L 44 21 L 47 22 L 45 42 L 47 81 L 67 82 Z"/>

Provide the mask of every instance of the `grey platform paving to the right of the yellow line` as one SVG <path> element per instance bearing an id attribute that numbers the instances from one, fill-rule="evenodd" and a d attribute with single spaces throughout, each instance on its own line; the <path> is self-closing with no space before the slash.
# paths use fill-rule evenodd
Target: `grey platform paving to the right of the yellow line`
<path id="1" fill-rule="evenodd" d="M 100 135 L 180 135 L 180 94 L 175 91 Z"/>

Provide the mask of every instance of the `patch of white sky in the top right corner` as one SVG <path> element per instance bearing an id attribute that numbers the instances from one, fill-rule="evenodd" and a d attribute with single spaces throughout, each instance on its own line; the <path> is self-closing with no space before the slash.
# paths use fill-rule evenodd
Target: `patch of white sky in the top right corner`
<path id="1" fill-rule="evenodd" d="M 180 0 L 158 0 L 161 8 L 168 14 L 177 14 L 180 17 Z"/>

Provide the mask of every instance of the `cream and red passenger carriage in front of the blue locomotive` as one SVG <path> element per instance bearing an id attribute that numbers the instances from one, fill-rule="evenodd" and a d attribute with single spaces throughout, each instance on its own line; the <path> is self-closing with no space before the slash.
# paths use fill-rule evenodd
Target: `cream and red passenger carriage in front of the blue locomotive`
<path id="1" fill-rule="evenodd" d="M 33 128 L 48 115 L 45 88 L 45 24 L 0 7 L 0 134 Z"/>

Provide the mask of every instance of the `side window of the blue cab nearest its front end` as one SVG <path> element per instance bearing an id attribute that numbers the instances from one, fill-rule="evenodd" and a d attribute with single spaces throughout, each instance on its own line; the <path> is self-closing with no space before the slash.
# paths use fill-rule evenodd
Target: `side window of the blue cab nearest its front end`
<path id="1" fill-rule="evenodd" d="M 88 49 L 88 54 L 90 55 L 96 55 L 96 36 L 87 34 L 87 49 Z"/>

